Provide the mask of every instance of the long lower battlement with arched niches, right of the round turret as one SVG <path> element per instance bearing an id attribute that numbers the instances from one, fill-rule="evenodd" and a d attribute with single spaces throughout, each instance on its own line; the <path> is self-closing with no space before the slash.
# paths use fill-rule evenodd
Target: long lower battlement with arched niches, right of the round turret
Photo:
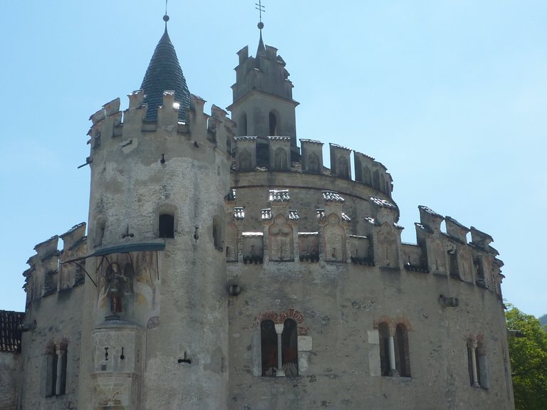
<path id="1" fill-rule="evenodd" d="M 488 234 L 419 206 L 420 222 L 415 224 L 417 243 L 402 243 L 403 227 L 397 224 L 397 206 L 387 199 L 370 196 L 365 200 L 369 214 L 348 214 L 366 208 L 351 206 L 346 210 L 343 196 L 335 191 L 322 191 L 321 208 L 296 209 L 295 203 L 306 204 L 314 199 L 306 194 L 302 201 L 298 189 L 291 191 L 291 194 L 289 189 L 264 191 L 269 207 L 256 214 L 246 210 L 248 204 L 244 199 L 227 202 L 227 261 L 336 262 L 364 266 L 363 269 L 376 267 L 409 274 L 442 275 L 488 289 L 501 299 L 503 262 L 489 246 Z M 441 229 L 442 221 L 446 231 Z M 472 241 L 467 239 L 469 232 Z"/>

